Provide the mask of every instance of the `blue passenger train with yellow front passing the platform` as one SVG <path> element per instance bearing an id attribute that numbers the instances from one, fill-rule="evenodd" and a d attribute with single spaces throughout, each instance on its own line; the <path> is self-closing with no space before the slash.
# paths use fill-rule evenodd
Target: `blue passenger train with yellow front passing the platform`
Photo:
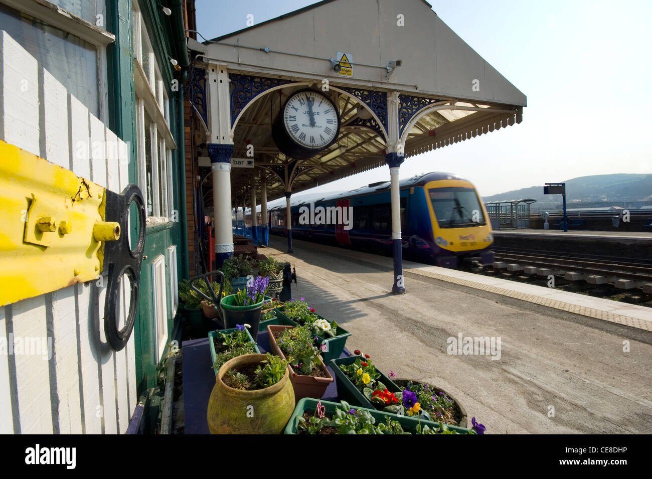
<path id="1" fill-rule="evenodd" d="M 400 181 L 404 259 L 446 268 L 494 261 L 489 216 L 475 186 L 453 173 Z M 393 254 L 390 182 L 290 205 L 292 237 Z M 268 211 L 269 232 L 287 235 L 286 207 Z"/>

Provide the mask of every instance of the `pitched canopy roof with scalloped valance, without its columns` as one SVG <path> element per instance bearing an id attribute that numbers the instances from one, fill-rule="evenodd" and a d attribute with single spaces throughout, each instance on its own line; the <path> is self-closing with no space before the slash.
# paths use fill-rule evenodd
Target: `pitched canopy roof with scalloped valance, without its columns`
<path id="1" fill-rule="evenodd" d="M 340 109 L 340 134 L 329 149 L 298 162 L 293 193 L 385 166 L 393 101 L 406 162 L 520 123 L 526 106 L 526 96 L 423 0 L 322 1 L 205 44 L 203 61 L 228 68 L 233 157 L 245 158 L 254 145 L 256 182 L 259 167 L 278 171 L 292 162 L 272 138 L 284 100 L 299 89 L 329 87 Z M 330 59 L 339 53 L 346 53 L 351 76 L 333 70 Z M 393 60 L 400 66 L 388 75 Z M 246 90 L 257 85 L 264 94 L 247 101 Z M 268 200 L 283 197 L 284 182 L 266 174 Z M 234 167 L 232 196 L 248 197 L 252 178 L 253 169 Z"/>

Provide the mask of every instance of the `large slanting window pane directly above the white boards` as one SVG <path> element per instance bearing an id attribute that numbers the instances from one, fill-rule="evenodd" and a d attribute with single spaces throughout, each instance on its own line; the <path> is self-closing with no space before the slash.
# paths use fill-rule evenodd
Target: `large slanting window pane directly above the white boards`
<path id="1" fill-rule="evenodd" d="M 0 28 L 35 57 L 93 115 L 100 116 L 97 50 L 93 45 L 1 3 Z"/>

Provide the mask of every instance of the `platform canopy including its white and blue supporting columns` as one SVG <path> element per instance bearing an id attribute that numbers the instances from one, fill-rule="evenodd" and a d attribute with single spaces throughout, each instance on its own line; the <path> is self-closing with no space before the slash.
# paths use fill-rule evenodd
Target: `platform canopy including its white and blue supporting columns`
<path id="1" fill-rule="evenodd" d="M 233 207 L 260 201 L 266 229 L 268 199 L 286 197 L 289 212 L 292 194 L 388 166 L 393 291 L 403 293 L 401 164 L 520 123 L 526 106 L 526 96 L 423 0 L 322 1 L 191 49 L 190 95 L 211 162 L 204 206 L 215 218 L 217 266 L 233 254 Z M 327 96 L 340 125 L 334 141 L 309 156 L 274 138 L 287 120 L 280 111 L 304 89 Z M 287 229 L 291 252 L 291 224 Z"/>

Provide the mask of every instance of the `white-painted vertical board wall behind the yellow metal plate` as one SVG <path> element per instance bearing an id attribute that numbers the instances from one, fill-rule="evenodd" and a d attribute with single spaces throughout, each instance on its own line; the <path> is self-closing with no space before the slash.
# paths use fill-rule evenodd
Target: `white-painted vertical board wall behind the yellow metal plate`
<path id="1" fill-rule="evenodd" d="M 0 138 L 114 192 L 128 183 L 128 158 L 107 149 L 78 154 L 89 138 L 108 146 L 122 140 L 5 31 Z M 119 323 L 128 311 L 127 291 L 123 285 Z M 106 278 L 0 308 L 0 337 L 50 337 L 53 349 L 51 360 L 0 355 L 0 433 L 126 431 L 138 401 L 134 334 L 123 351 L 111 350 L 104 338 L 105 296 Z"/>

